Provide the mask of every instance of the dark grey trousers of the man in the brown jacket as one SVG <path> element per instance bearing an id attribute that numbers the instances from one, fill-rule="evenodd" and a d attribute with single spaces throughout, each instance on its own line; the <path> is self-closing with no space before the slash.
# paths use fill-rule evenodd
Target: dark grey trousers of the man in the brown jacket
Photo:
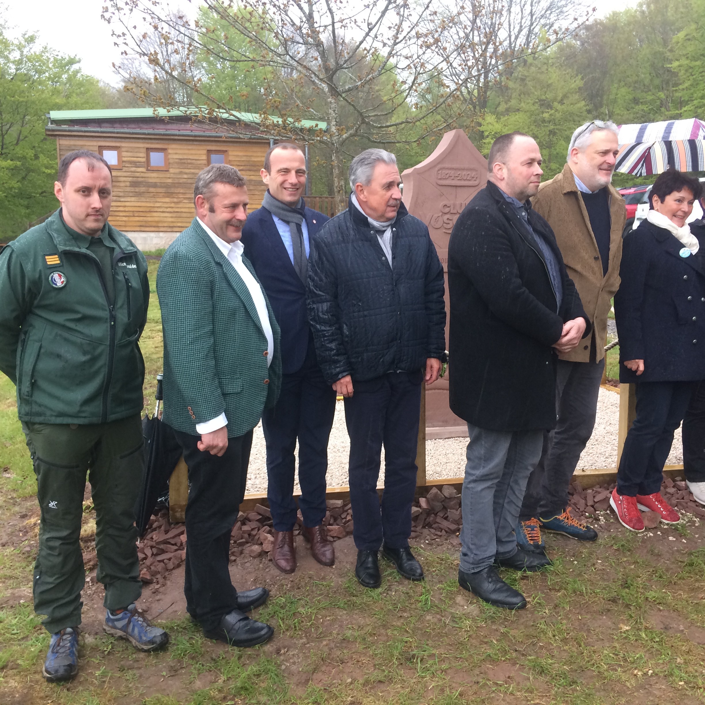
<path id="1" fill-rule="evenodd" d="M 563 513 L 568 506 L 568 486 L 580 453 L 587 445 L 595 426 L 597 397 L 605 359 L 594 362 L 558 360 L 556 369 L 556 409 L 558 424 L 546 431 L 544 448 L 536 470 L 527 482 L 527 491 L 519 515 L 549 519 Z"/>

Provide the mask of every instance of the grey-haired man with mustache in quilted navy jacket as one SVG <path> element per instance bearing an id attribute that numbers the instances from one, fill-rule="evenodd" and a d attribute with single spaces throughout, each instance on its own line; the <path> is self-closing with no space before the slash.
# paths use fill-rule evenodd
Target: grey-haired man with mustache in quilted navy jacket
<path id="1" fill-rule="evenodd" d="M 309 321 L 326 380 L 345 398 L 355 575 L 381 582 L 377 554 L 407 580 L 421 384 L 444 357 L 443 268 L 428 228 L 401 202 L 396 157 L 367 149 L 350 164 L 348 209 L 314 235 Z M 381 506 L 377 478 L 384 444 Z"/>

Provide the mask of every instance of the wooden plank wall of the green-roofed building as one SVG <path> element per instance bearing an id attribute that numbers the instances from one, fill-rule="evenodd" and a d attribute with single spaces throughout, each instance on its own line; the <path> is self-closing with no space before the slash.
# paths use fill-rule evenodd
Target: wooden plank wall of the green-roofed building
<path id="1" fill-rule="evenodd" d="M 228 163 L 247 179 L 250 212 L 262 205 L 266 187 L 259 176 L 269 140 L 145 139 L 109 135 L 59 135 L 59 159 L 74 149 L 121 147 L 123 164 L 113 171 L 110 222 L 121 231 L 178 233 L 195 213 L 193 184 L 207 166 L 207 151 L 228 151 Z M 147 171 L 147 148 L 168 149 L 168 171 Z"/>

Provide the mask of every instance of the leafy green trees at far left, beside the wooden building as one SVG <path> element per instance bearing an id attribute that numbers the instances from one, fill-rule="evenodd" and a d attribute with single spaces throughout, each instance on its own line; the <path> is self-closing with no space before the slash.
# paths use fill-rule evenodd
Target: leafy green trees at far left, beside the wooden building
<path id="1" fill-rule="evenodd" d="M 9 39 L 0 23 L 0 240 L 56 207 L 56 142 L 44 135 L 50 110 L 99 108 L 105 90 L 78 59 Z"/>

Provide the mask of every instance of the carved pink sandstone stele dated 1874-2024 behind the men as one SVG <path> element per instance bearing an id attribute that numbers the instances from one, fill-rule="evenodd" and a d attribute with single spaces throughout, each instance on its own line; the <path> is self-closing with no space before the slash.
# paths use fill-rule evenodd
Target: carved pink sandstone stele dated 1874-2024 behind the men
<path id="1" fill-rule="evenodd" d="M 446 348 L 448 347 L 448 240 L 455 221 L 487 181 L 487 160 L 462 130 L 452 130 L 433 154 L 403 174 L 404 204 L 410 214 L 429 227 L 446 276 Z M 448 406 L 446 376 L 426 389 L 426 436 L 428 439 L 467 436 L 467 425 Z"/>

